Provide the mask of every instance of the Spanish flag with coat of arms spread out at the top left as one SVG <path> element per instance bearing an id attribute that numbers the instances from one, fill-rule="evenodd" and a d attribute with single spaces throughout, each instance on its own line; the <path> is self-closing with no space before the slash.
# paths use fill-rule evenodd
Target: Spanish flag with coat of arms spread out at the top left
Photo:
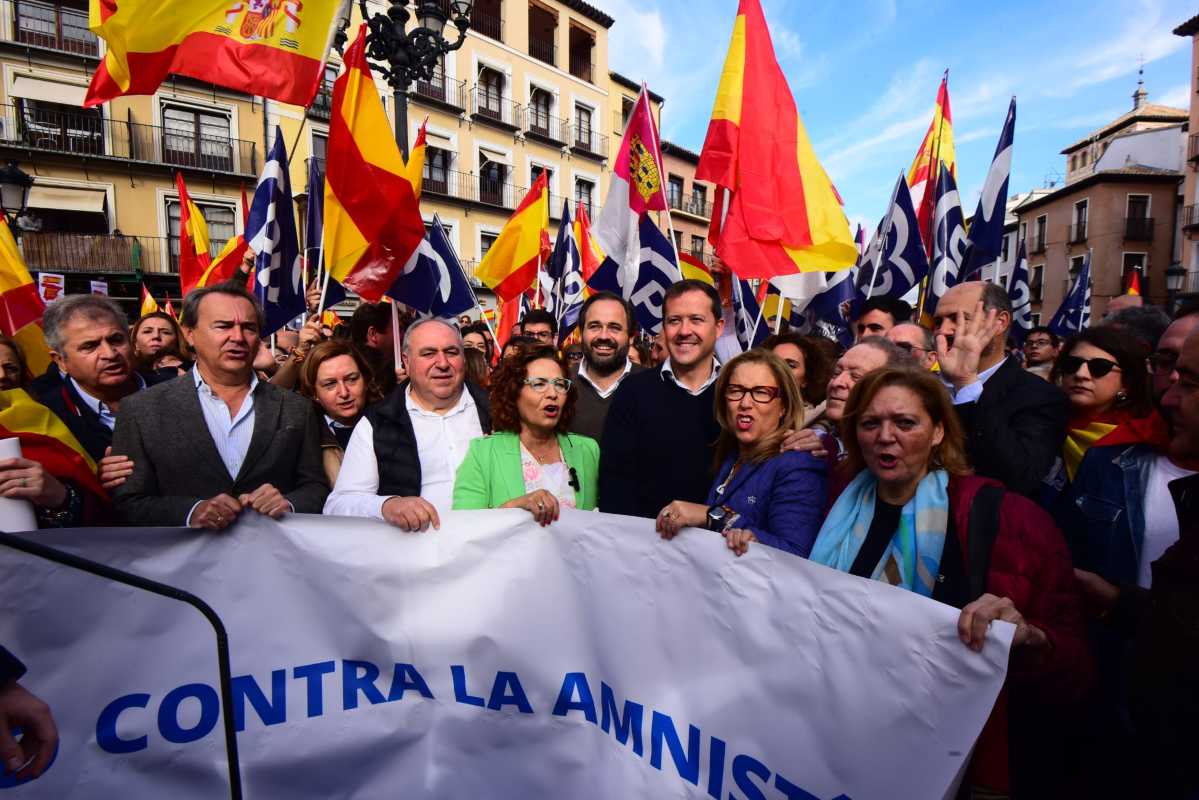
<path id="1" fill-rule="evenodd" d="M 308 106 L 345 0 L 91 0 L 107 44 L 85 106 L 152 95 L 175 73 Z"/>

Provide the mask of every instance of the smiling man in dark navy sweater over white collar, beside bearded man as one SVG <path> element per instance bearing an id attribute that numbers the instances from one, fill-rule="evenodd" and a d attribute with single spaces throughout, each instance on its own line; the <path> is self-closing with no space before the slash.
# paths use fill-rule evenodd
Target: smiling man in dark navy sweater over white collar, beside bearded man
<path id="1" fill-rule="evenodd" d="M 600 458 L 600 510 L 653 518 L 671 500 L 703 503 L 712 482 L 721 296 L 680 281 L 663 299 L 668 357 L 628 375 L 613 398 Z"/>

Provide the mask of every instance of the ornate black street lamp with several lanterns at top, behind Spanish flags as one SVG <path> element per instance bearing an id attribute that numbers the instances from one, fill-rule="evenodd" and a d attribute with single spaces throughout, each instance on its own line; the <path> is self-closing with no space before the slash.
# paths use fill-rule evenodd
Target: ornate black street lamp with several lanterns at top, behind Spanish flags
<path id="1" fill-rule="evenodd" d="M 405 31 L 415 6 L 416 25 Z M 359 0 L 362 19 L 367 20 L 367 58 L 380 64 L 382 77 L 392 90 L 396 103 L 396 144 L 408 161 L 408 88 L 414 80 L 433 80 L 434 72 L 446 53 L 462 47 L 470 28 L 470 11 L 475 0 L 392 0 L 386 14 L 372 17 L 367 1 Z M 445 37 L 446 23 L 453 23 L 458 36 Z"/>

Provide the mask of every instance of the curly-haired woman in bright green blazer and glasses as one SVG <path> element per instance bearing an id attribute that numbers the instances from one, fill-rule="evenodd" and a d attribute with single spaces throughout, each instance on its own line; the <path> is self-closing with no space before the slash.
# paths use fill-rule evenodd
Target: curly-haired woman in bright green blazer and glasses
<path id="1" fill-rule="evenodd" d="M 578 390 L 552 347 L 500 362 L 492 375 L 492 429 L 470 443 L 453 507 L 524 509 L 542 525 L 562 506 L 596 507 L 600 446 L 567 433 Z"/>

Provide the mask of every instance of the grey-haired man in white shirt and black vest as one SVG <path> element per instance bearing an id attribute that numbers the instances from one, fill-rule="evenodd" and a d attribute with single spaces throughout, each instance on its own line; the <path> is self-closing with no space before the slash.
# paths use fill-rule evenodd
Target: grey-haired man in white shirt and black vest
<path id="1" fill-rule="evenodd" d="M 439 528 L 471 439 L 492 428 L 482 389 L 466 383 L 462 335 L 440 319 L 404 333 L 408 381 L 354 427 L 325 513 L 384 519 L 402 530 Z"/>

